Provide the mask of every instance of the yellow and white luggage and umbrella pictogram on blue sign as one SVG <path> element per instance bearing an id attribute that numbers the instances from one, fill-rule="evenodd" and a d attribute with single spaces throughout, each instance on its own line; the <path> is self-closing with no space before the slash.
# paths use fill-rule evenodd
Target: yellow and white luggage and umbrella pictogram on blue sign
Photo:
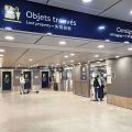
<path id="1" fill-rule="evenodd" d="M 8 21 L 13 20 L 20 22 L 21 12 L 18 7 L 4 6 L 4 19 Z"/>

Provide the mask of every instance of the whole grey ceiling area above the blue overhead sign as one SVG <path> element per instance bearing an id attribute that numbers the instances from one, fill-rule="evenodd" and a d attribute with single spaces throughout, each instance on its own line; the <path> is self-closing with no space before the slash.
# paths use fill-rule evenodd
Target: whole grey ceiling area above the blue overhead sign
<path id="1" fill-rule="evenodd" d="M 112 18 L 132 22 L 132 0 L 92 0 L 84 3 L 81 0 L 29 0 L 78 12 Z"/>

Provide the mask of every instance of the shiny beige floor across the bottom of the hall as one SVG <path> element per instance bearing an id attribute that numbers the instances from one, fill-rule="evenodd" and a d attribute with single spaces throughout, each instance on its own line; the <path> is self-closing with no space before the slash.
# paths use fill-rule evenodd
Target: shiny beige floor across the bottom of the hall
<path id="1" fill-rule="evenodd" d="M 1 94 L 0 132 L 131 132 L 132 111 L 72 92 Z"/>

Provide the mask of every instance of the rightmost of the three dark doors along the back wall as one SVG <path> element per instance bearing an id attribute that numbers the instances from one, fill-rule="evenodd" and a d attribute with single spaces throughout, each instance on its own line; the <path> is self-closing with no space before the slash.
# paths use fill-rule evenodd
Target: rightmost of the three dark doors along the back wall
<path id="1" fill-rule="evenodd" d="M 50 80 L 48 80 L 48 72 L 42 72 L 42 88 L 48 88 Z"/>

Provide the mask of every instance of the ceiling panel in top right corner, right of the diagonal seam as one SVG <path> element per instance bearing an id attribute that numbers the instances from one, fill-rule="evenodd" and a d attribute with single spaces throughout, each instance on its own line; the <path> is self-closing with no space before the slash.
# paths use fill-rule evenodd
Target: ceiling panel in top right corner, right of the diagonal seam
<path id="1" fill-rule="evenodd" d="M 132 15 L 130 14 L 131 10 L 132 10 L 132 0 L 122 0 L 120 3 L 110 8 L 101 15 L 132 22 Z"/>

